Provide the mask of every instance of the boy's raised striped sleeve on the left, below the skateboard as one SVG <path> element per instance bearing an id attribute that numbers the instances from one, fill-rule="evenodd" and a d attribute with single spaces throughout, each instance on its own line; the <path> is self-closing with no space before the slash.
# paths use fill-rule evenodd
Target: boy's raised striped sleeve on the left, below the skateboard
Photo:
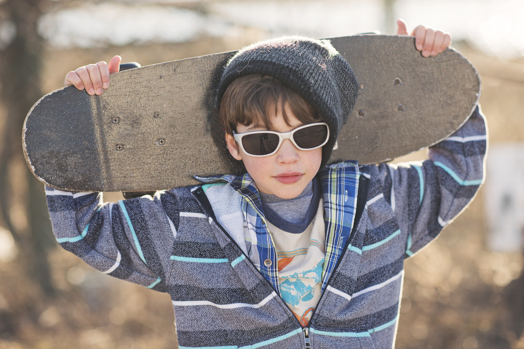
<path id="1" fill-rule="evenodd" d="M 46 187 L 53 233 L 60 245 L 111 276 L 166 291 L 169 256 L 178 226 L 169 193 L 103 203 L 101 193 Z M 171 209 L 166 208 L 166 205 Z"/>

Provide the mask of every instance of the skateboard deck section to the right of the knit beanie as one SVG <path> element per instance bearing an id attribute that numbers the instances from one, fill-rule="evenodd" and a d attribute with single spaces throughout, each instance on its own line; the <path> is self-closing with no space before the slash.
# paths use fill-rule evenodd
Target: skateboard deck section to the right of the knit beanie
<path id="1" fill-rule="evenodd" d="M 330 163 L 353 159 L 373 164 L 430 147 L 459 129 L 478 103 L 478 72 L 454 49 L 424 58 L 412 37 L 331 41 L 350 62 L 361 90 Z"/>

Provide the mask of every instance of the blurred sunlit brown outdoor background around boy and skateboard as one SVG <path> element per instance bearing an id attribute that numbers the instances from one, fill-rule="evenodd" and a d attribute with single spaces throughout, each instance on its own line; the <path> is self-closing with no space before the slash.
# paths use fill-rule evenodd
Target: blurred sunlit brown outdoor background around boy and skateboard
<path id="1" fill-rule="evenodd" d="M 146 65 L 283 34 L 392 33 L 396 18 L 452 33 L 482 77 L 490 131 L 476 200 L 406 263 L 397 348 L 524 348 L 521 0 L 0 0 L 0 348 L 177 347 L 168 295 L 95 272 L 52 237 L 20 135 L 68 71 L 114 54 Z"/>

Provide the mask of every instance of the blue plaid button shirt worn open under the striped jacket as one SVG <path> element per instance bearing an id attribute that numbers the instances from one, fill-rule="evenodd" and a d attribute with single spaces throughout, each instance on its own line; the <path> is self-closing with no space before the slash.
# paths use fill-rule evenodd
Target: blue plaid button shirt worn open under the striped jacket
<path id="1" fill-rule="evenodd" d="M 358 193 L 358 163 L 346 161 L 323 168 L 319 174 L 325 212 L 325 262 L 322 271 L 322 291 L 342 255 L 347 239 L 353 229 L 356 199 Z M 244 224 L 249 231 L 249 258 L 260 273 L 271 283 L 278 294 L 278 262 L 275 244 L 267 229 L 264 209 L 255 182 L 244 174 L 240 176 L 225 175 L 215 177 L 196 177 L 204 183 L 230 183 L 231 187 L 241 195 L 241 205 L 244 212 Z M 206 184 L 209 185 L 209 184 Z M 206 186 L 204 185 L 204 187 Z M 343 205 L 340 203 L 343 202 Z M 256 246 L 256 249 L 253 248 Z M 267 263 L 270 260 L 271 263 Z"/>

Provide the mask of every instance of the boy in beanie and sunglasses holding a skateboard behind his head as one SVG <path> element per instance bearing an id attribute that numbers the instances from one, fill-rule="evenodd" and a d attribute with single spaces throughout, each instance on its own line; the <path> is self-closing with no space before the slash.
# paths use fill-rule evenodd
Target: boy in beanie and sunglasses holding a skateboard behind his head
<path id="1" fill-rule="evenodd" d="M 413 35 L 425 57 L 450 43 L 424 27 Z M 101 94 L 118 64 L 81 67 L 65 84 Z M 48 187 L 58 242 L 106 274 L 169 292 L 180 347 L 394 346 L 403 260 L 475 195 L 485 123 L 477 108 L 423 164 L 326 166 L 357 89 L 326 41 L 239 51 L 222 75 L 220 117 L 248 173 L 116 204 Z"/>

